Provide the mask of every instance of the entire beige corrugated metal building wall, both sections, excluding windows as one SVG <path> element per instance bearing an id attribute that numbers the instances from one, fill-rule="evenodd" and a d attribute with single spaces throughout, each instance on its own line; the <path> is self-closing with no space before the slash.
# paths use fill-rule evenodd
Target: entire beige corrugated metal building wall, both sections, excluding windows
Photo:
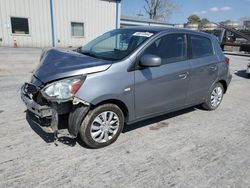
<path id="1" fill-rule="evenodd" d="M 77 47 L 116 28 L 115 0 L 52 0 L 56 47 Z M 120 20 L 119 3 L 118 20 Z M 11 17 L 28 18 L 29 34 L 12 34 Z M 84 23 L 84 36 L 74 37 L 71 22 Z M 51 47 L 50 0 L 0 0 L 0 46 Z M 119 23 L 118 23 L 119 24 Z"/>

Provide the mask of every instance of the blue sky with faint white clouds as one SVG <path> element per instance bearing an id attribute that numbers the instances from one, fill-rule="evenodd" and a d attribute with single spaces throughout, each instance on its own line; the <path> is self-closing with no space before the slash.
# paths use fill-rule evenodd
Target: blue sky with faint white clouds
<path id="1" fill-rule="evenodd" d="M 147 17 L 144 11 L 145 0 L 122 0 L 122 15 Z M 185 23 L 191 14 L 207 18 L 212 22 L 225 20 L 238 21 L 250 17 L 250 0 L 172 0 L 177 5 L 169 23 Z"/>

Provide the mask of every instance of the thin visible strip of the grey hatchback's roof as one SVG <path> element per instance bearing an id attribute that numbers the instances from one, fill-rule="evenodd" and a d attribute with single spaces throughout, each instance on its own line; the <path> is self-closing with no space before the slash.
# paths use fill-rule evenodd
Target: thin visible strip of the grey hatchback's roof
<path id="1" fill-rule="evenodd" d="M 154 32 L 154 33 L 162 33 L 162 32 L 185 32 L 188 34 L 198 34 L 203 35 L 207 37 L 211 37 L 211 34 L 201 32 L 201 31 L 193 31 L 190 29 L 184 29 L 184 28 L 174 28 L 174 27 L 159 27 L 159 26 L 134 26 L 134 27 L 128 27 L 128 28 L 121 28 L 121 29 L 127 29 L 127 30 L 133 30 L 133 31 L 148 31 L 148 32 Z"/>

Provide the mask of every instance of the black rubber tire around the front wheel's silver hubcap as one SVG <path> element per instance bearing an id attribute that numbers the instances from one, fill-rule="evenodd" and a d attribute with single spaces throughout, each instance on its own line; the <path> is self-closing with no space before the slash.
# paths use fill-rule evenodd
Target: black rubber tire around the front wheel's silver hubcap
<path id="1" fill-rule="evenodd" d="M 117 129 L 117 132 L 115 133 L 115 135 L 113 135 L 113 137 L 110 140 L 100 143 L 100 142 L 96 142 L 92 138 L 91 125 L 93 121 L 95 120 L 95 118 L 105 111 L 114 112 L 118 116 L 119 126 Z M 123 115 L 122 110 L 115 104 L 103 104 L 88 112 L 88 114 L 82 121 L 79 134 L 80 134 L 82 141 L 90 148 L 101 148 L 101 147 L 108 146 L 112 144 L 113 142 L 115 142 L 118 136 L 120 135 L 120 133 L 122 132 L 123 126 L 124 126 L 124 115 Z"/>

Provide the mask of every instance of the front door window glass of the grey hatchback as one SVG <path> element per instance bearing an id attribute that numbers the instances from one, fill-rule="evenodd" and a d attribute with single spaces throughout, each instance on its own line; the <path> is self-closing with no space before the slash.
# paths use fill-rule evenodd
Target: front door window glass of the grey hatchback
<path id="1" fill-rule="evenodd" d="M 143 55 L 152 54 L 162 59 L 162 64 L 183 61 L 187 59 L 187 39 L 185 34 L 169 34 L 157 39 Z"/>

